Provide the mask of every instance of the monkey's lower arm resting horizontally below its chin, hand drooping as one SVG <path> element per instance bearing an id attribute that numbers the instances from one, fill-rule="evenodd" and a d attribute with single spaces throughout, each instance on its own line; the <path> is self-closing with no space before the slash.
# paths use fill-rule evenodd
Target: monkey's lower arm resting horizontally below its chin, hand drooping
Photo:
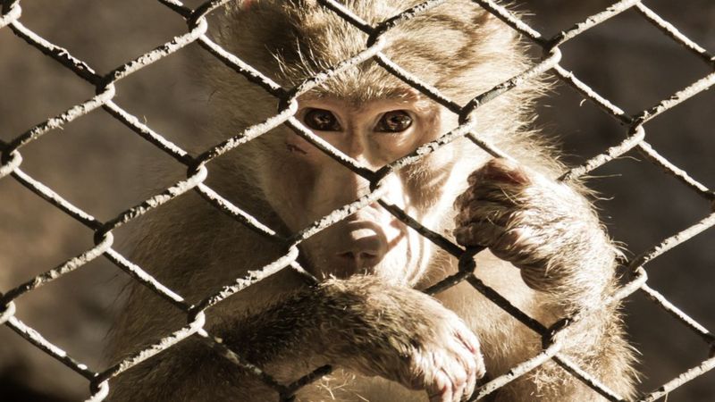
<path id="1" fill-rule="evenodd" d="M 471 395 L 484 375 L 478 340 L 456 314 L 370 276 L 325 281 L 257 313 L 224 314 L 210 332 L 284 384 L 332 364 L 453 402 Z M 255 374 L 197 339 L 122 373 L 110 387 L 113 401 L 278 399 Z"/>

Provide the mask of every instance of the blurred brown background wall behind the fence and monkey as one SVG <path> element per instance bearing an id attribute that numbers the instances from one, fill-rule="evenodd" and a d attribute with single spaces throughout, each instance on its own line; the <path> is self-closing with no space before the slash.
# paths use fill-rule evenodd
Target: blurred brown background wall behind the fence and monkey
<path id="1" fill-rule="evenodd" d="M 190 6 L 198 1 L 187 2 Z M 532 26 L 549 37 L 611 2 L 524 0 Z M 715 2 L 644 2 L 711 52 Z M 25 0 L 21 22 L 104 73 L 185 31 L 181 18 L 155 1 Z M 196 46 L 117 85 L 114 101 L 180 145 L 200 135 L 210 94 L 198 84 Z M 620 14 L 562 46 L 562 66 L 620 106 L 638 113 L 711 72 L 635 11 Z M 8 141 L 48 116 L 94 95 L 60 64 L 0 29 L 0 139 Z M 536 124 L 560 138 L 569 163 L 582 163 L 625 138 L 624 128 L 583 97 L 558 86 L 544 97 Z M 646 125 L 648 141 L 694 178 L 715 188 L 715 95 L 704 92 Z M 21 168 L 100 221 L 147 197 L 138 178 L 147 165 L 172 160 L 106 113 L 95 111 L 22 149 Z M 173 163 L 176 177 L 183 174 Z M 638 255 L 709 213 L 691 190 L 629 153 L 593 172 L 598 206 L 627 255 Z M 131 224 L 116 233 L 120 250 Z M 0 291 L 12 289 L 92 246 L 91 232 L 12 179 L 0 180 Z M 715 230 L 647 265 L 649 284 L 706 327 L 715 328 Z M 100 370 L 105 333 L 125 275 L 99 258 L 17 300 L 17 316 L 71 356 Z M 651 390 L 707 356 L 700 339 L 640 294 L 626 305 L 628 332 Z M 715 400 L 712 373 L 669 401 Z M 0 328 L 0 400 L 61 401 L 88 396 L 87 381 L 6 327 Z"/>

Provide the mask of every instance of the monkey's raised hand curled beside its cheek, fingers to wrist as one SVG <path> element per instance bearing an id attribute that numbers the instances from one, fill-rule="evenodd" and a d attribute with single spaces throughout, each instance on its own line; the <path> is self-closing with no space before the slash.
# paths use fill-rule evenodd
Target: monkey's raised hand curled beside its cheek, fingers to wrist
<path id="1" fill-rule="evenodd" d="M 473 172 L 468 183 L 455 202 L 455 238 L 467 247 L 489 247 L 520 268 L 531 288 L 568 289 L 578 270 L 607 272 L 602 264 L 612 264 L 615 248 L 598 217 L 567 184 L 502 158 Z"/>

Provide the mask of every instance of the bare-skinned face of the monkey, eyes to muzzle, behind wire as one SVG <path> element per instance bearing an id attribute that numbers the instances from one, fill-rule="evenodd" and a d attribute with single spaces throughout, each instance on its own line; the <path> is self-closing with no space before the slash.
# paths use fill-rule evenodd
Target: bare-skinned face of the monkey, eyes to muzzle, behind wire
<path id="1" fill-rule="evenodd" d="M 438 138 L 443 130 L 440 108 L 414 92 L 360 103 L 306 97 L 300 100 L 296 116 L 333 147 L 374 171 Z M 265 162 L 272 167 L 262 187 L 270 190 L 269 202 L 290 231 L 304 229 L 369 193 L 366 179 L 305 139 L 285 132 L 281 140 L 272 141 L 273 152 L 281 157 Z M 435 189 L 427 187 L 439 181 L 435 174 L 449 171 L 445 161 L 451 159 L 427 158 L 418 168 L 392 174 L 383 184 L 383 200 L 416 218 L 429 219 Z M 427 195 L 430 199 L 425 199 Z M 428 242 L 378 203 L 315 234 L 301 247 L 309 270 L 319 277 L 367 273 L 407 282 L 422 276 L 423 262 L 432 253 Z"/>

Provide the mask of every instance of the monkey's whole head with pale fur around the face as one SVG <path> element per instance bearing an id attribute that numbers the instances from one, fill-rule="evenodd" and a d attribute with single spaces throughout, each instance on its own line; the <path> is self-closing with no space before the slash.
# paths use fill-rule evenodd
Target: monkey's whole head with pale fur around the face
<path id="1" fill-rule="evenodd" d="M 377 23 L 418 3 L 352 1 L 346 5 L 368 23 Z M 312 1 L 234 4 L 219 24 L 217 38 L 227 50 L 284 88 L 298 85 L 358 54 L 365 49 L 367 41 L 365 33 Z M 385 41 L 383 53 L 393 62 L 462 105 L 524 71 L 527 65 L 516 34 L 492 14 L 467 1 L 444 4 L 400 23 L 385 35 Z M 259 121 L 258 116 L 275 113 L 274 98 L 266 98 L 262 88 L 247 84 L 232 71 L 217 69 L 208 76 L 214 87 L 211 101 L 214 132 L 235 133 Z M 527 136 L 522 126 L 530 119 L 532 98 L 538 95 L 541 85 L 533 81 L 481 107 L 475 116 L 479 135 L 507 149 L 511 148 L 509 143 L 513 138 Z M 392 105 L 380 105 L 385 99 L 390 99 Z M 299 107 L 336 102 L 357 115 L 366 112 L 369 105 L 383 110 L 410 109 L 410 113 L 415 114 L 412 128 L 415 132 L 407 134 L 362 134 L 357 132 L 360 128 L 355 128 L 355 132 L 347 132 L 346 128 L 342 136 L 365 137 L 353 143 L 338 139 L 337 134 L 321 134 L 333 146 L 371 169 L 407 155 L 458 125 L 454 113 L 409 88 L 372 60 L 342 71 L 301 96 Z M 365 114 L 367 119 L 373 118 L 369 109 Z M 302 117 L 300 112 L 298 117 Z M 241 172 L 241 179 L 248 182 L 243 188 L 255 186 L 290 232 L 305 228 L 367 192 L 366 180 L 321 155 L 284 127 L 240 147 L 236 154 L 240 155 L 220 163 L 234 164 L 227 169 Z M 427 227 L 449 228 L 451 200 L 463 189 L 461 183 L 465 182 L 466 174 L 484 160 L 484 155 L 477 147 L 468 145 L 443 148 L 425 156 L 421 163 L 402 169 L 399 177 L 391 178 L 395 180 L 386 185 L 389 188 L 386 197 Z M 445 181 L 452 184 L 444 186 Z M 338 194 L 321 190 L 334 188 L 341 182 L 350 184 Z M 445 191 L 450 194 L 440 194 Z M 438 200 L 446 204 L 435 205 Z M 352 228 L 348 228 L 350 225 Z M 366 262 L 360 260 L 345 268 L 344 259 L 335 255 L 349 254 L 352 247 L 349 243 L 356 240 L 373 243 L 366 246 L 371 249 L 366 258 L 379 255 L 379 264 L 367 267 Z M 425 275 L 428 263 L 433 261 L 433 246 L 376 205 L 316 234 L 303 247 L 309 266 L 323 276 L 347 277 L 367 268 L 370 273 L 389 280 L 406 280 L 414 286 L 444 273 L 437 270 Z"/>

